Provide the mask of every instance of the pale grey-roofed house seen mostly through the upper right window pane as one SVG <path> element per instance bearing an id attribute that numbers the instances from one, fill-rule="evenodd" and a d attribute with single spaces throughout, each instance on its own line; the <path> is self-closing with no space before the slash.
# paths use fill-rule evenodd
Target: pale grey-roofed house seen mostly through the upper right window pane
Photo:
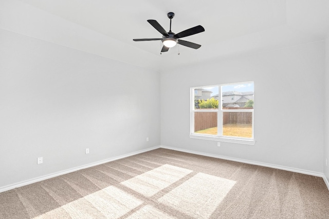
<path id="1" fill-rule="evenodd" d="M 218 94 L 212 96 L 218 99 Z M 253 99 L 253 92 L 226 91 L 223 92 L 222 100 L 223 107 L 244 107 L 249 99 Z"/>

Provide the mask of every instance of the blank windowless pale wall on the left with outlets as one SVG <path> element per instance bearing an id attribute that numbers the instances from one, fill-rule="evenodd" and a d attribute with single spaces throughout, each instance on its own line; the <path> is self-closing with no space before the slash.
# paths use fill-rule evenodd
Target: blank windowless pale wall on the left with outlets
<path id="1" fill-rule="evenodd" d="M 159 73 L 2 29 L 0 51 L 0 188 L 160 144 Z"/>

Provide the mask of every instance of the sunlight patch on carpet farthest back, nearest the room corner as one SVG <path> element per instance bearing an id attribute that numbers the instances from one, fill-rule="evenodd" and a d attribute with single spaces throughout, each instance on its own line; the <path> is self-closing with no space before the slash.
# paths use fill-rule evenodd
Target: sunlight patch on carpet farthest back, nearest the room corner
<path id="1" fill-rule="evenodd" d="M 161 167 L 137 175 L 121 184 L 144 196 L 150 197 L 191 172 L 192 170 L 165 164 Z"/>

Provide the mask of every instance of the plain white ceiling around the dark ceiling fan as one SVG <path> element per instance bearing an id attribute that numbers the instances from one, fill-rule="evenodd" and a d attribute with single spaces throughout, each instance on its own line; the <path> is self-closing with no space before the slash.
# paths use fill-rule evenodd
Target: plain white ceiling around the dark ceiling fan
<path id="1" fill-rule="evenodd" d="M 0 28 L 153 70 L 260 53 L 325 39 L 327 0 L 0 0 Z M 202 25 L 205 32 L 182 38 L 160 55 L 159 38 L 147 19 L 169 31 Z"/>

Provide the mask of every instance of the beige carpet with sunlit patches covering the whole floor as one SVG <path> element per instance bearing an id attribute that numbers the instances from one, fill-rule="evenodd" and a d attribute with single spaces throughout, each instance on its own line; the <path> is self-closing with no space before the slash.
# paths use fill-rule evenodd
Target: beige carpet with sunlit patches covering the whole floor
<path id="1" fill-rule="evenodd" d="M 322 178 L 157 149 L 0 193 L 0 218 L 329 218 Z"/>

